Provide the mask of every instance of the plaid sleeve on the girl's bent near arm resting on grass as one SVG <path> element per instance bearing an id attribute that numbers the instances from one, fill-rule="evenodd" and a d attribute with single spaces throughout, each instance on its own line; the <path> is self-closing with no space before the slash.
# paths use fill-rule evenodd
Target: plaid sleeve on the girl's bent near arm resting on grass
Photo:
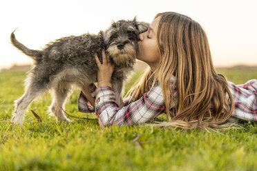
<path id="1" fill-rule="evenodd" d="M 176 94 L 174 95 L 176 96 Z M 139 100 L 121 109 L 115 101 L 115 93 L 112 88 L 99 87 L 96 90 L 95 114 L 102 126 L 146 123 L 158 117 L 165 110 L 164 97 L 160 86 L 151 88 Z"/>

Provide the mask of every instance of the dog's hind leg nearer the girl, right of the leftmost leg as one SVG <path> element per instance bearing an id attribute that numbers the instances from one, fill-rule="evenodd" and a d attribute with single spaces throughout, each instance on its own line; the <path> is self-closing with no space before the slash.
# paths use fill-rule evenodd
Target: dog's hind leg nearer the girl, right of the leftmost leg
<path id="1" fill-rule="evenodd" d="M 49 107 L 50 115 L 54 115 L 57 121 L 67 121 L 71 122 L 68 119 L 63 109 L 65 109 L 65 103 L 70 95 L 71 85 L 69 83 L 57 83 L 52 90 L 53 102 Z"/>

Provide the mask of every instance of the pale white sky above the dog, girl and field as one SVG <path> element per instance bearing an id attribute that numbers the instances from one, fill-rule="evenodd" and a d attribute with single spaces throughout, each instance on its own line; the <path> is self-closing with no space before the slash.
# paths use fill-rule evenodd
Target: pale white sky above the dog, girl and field
<path id="1" fill-rule="evenodd" d="M 111 20 L 133 19 L 151 23 L 158 12 L 174 11 L 198 21 L 207 32 L 215 66 L 257 65 L 256 0 L 108 0 L 0 2 L 0 68 L 31 63 L 10 44 L 10 33 L 28 48 L 40 49 L 70 35 L 97 33 Z"/>

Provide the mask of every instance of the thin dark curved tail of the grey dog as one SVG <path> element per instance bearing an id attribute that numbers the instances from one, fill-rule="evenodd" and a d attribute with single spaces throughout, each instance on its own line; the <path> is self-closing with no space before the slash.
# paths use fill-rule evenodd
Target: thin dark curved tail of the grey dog
<path id="1" fill-rule="evenodd" d="M 10 35 L 10 41 L 12 42 L 12 45 L 15 46 L 17 49 L 21 50 L 21 52 L 23 52 L 24 54 L 32 57 L 33 59 L 37 59 L 37 57 L 42 57 L 42 54 L 43 54 L 42 50 L 31 50 L 26 46 L 23 46 L 23 44 L 20 43 L 19 41 L 17 41 L 15 37 L 15 30 Z"/>

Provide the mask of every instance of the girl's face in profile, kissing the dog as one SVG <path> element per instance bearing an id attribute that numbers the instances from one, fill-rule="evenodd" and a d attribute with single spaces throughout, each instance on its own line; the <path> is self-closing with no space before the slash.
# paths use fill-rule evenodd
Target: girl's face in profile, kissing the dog
<path id="1" fill-rule="evenodd" d="M 160 63 L 160 52 L 157 43 L 157 29 L 160 17 L 153 20 L 149 29 L 140 34 L 140 41 L 138 42 L 139 54 L 137 59 L 147 63 L 152 70 L 158 68 Z"/>

